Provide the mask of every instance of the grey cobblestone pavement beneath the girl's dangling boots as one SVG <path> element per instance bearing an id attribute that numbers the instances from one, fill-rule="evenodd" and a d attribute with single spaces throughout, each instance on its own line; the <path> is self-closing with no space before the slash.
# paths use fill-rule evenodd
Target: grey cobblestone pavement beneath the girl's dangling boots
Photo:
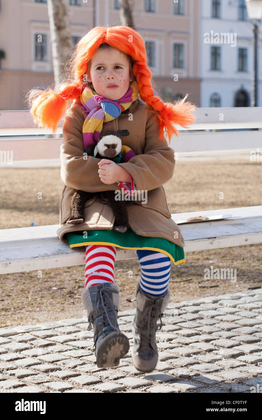
<path id="1" fill-rule="evenodd" d="M 118 312 L 130 351 L 108 369 L 86 318 L 1 329 L 0 392 L 262 392 L 262 289 L 169 303 L 150 373 L 132 365 L 134 314 Z"/>

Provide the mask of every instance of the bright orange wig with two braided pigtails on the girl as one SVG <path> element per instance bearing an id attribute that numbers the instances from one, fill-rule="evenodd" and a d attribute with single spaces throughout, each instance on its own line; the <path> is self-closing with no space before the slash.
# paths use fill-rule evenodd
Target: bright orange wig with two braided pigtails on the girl
<path id="1" fill-rule="evenodd" d="M 148 68 L 148 57 L 143 38 L 129 26 L 96 26 L 80 39 L 71 59 L 69 77 L 60 85 L 59 93 L 49 89 L 32 89 L 27 95 L 30 111 L 38 126 L 52 128 L 56 132 L 58 121 L 66 111 L 66 102 L 74 100 L 87 87 L 84 81 L 90 60 L 101 44 L 106 43 L 132 59 L 132 74 L 138 82 L 140 98 L 146 102 L 149 110 L 159 121 L 159 139 L 168 136 L 169 144 L 173 134 L 178 136 L 173 124 L 189 128 L 195 119 L 195 105 L 185 102 L 188 94 L 180 102 L 162 102 L 154 95 L 151 87 L 152 73 Z"/>

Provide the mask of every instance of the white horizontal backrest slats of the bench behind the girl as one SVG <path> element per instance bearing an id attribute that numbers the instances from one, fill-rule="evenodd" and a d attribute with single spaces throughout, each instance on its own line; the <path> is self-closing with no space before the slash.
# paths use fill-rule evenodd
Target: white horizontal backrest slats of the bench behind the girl
<path id="1" fill-rule="evenodd" d="M 195 113 L 196 122 L 190 129 L 177 125 L 180 136 L 174 135 L 171 139 L 170 146 L 178 156 L 212 155 L 218 151 L 249 153 L 262 147 L 262 107 L 196 108 Z M 63 122 L 64 117 L 58 123 L 56 134 L 62 133 Z M 249 131 L 254 128 L 258 130 Z M 232 129 L 236 131 L 209 131 Z M 52 134 L 52 131 L 36 127 L 29 110 L 0 111 L 0 151 L 13 150 L 14 162 L 59 159 L 62 138 L 37 137 L 43 134 Z M 6 166 L 1 161 L 0 165 Z"/>

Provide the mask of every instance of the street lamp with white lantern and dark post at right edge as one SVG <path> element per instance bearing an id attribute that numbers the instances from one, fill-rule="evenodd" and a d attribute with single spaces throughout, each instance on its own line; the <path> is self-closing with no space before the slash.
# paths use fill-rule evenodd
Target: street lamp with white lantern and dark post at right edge
<path id="1" fill-rule="evenodd" d="M 246 8 L 249 17 L 249 21 L 253 24 L 254 33 L 254 70 L 252 77 L 252 98 L 251 106 L 257 106 L 258 100 L 258 86 L 257 86 L 257 75 L 258 75 L 258 49 L 257 49 L 257 38 L 258 38 L 258 26 L 261 23 L 262 18 L 262 0 L 245 0 Z"/>

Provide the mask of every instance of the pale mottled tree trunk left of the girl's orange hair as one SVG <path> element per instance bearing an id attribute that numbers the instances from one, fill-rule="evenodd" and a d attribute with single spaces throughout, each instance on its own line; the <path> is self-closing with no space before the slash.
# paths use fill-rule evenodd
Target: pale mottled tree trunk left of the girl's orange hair
<path id="1" fill-rule="evenodd" d="M 73 47 L 68 17 L 68 0 L 47 0 L 52 44 L 55 90 L 66 76 L 65 64 Z"/>

